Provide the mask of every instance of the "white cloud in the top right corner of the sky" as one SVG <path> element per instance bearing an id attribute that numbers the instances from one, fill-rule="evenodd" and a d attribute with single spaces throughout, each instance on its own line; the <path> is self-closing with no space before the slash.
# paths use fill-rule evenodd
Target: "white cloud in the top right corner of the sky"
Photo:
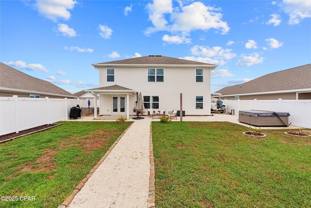
<path id="1" fill-rule="evenodd" d="M 281 8 L 289 14 L 288 23 L 291 25 L 299 24 L 304 18 L 311 17 L 310 0 L 283 0 Z"/>

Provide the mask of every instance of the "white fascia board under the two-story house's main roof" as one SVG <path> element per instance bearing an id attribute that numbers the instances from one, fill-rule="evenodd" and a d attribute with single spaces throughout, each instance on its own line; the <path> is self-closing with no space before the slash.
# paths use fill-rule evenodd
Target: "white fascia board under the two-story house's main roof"
<path id="1" fill-rule="evenodd" d="M 208 68 L 210 70 L 214 70 L 216 67 L 218 67 L 218 65 L 214 65 L 214 64 L 206 64 L 206 65 L 200 65 L 200 64 L 195 64 L 195 65 L 187 65 L 187 64 L 92 64 L 93 67 L 95 67 L 95 69 L 99 69 L 101 67 L 103 68 L 108 68 L 108 67 L 146 67 L 146 68 L 150 68 L 150 67 L 161 67 L 161 68 L 165 68 L 165 67 L 178 67 L 178 68 L 189 68 L 189 67 L 194 67 L 194 68 Z"/>

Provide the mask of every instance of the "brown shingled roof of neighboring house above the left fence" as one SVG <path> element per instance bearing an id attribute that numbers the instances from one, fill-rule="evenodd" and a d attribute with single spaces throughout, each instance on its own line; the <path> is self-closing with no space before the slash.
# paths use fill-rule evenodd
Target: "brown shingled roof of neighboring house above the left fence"
<path id="1" fill-rule="evenodd" d="M 75 97 L 71 93 L 50 82 L 32 77 L 1 62 L 0 75 L 1 91 L 46 94 L 59 97 Z"/>

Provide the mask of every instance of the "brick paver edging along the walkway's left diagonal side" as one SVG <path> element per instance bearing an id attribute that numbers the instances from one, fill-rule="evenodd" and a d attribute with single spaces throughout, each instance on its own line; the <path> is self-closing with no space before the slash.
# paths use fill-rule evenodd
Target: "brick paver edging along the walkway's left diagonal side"
<path id="1" fill-rule="evenodd" d="M 71 192 L 69 197 L 61 204 L 58 206 L 58 208 L 67 208 L 71 201 L 73 200 L 74 196 L 84 187 L 85 183 L 87 180 L 92 176 L 92 174 L 95 172 L 95 170 L 104 162 L 105 158 L 109 155 L 111 150 L 116 146 L 116 144 L 119 142 L 119 140 L 122 138 L 122 136 L 126 133 L 126 131 L 132 126 L 133 123 L 131 123 L 125 131 L 119 136 L 119 138 L 111 145 L 109 150 L 104 154 L 104 156 L 98 161 L 98 163 L 92 168 L 92 170 L 89 171 L 89 173 L 86 175 L 85 178 L 82 179 L 81 183 L 78 184 L 78 186 Z"/>

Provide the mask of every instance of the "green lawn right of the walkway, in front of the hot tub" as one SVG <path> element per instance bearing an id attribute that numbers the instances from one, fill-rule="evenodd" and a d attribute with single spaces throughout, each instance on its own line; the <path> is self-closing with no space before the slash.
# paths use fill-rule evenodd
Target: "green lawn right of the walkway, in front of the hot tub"
<path id="1" fill-rule="evenodd" d="M 159 208 L 311 207 L 311 137 L 229 122 L 152 123 Z"/>

